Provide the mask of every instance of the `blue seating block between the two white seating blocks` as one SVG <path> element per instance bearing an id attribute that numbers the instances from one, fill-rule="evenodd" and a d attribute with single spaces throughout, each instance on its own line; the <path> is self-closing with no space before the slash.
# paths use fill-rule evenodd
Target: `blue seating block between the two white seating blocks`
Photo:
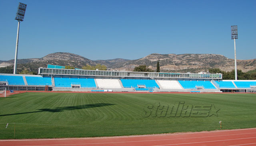
<path id="1" fill-rule="evenodd" d="M 124 88 L 138 88 L 138 85 L 144 85 L 146 88 L 159 88 L 155 80 L 126 80 L 121 79 Z"/>

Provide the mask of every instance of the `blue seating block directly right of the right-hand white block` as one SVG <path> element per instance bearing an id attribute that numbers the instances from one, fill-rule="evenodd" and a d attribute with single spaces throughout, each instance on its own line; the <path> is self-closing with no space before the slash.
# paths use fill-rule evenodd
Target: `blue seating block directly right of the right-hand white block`
<path id="1" fill-rule="evenodd" d="M 178 81 L 184 89 L 195 89 L 196 86 L 204 89 L 216 89 L 210 81 Z"/>

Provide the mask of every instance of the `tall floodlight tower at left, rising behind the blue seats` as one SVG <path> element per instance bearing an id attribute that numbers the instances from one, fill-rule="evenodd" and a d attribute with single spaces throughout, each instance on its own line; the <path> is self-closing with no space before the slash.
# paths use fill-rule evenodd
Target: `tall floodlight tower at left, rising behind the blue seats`
<path id="1" fill-rule="evenodd" d="M 27 8 L 27 5 L 20 2 L 19 6 L 18 6 L 17 13 L 16 13 L 16 17 L 15 17 L 15 19 L 18 20 L 18 30 L 17 30 L 17 40 L 16 40 L 16 49 L 15 49 L 13 74 L 16 74 L 16 71 L 17 71 L 17 58 L 18 58 L 18 43 L 19 43 L 20 21 L 24 20 L 26 8 Z"/>

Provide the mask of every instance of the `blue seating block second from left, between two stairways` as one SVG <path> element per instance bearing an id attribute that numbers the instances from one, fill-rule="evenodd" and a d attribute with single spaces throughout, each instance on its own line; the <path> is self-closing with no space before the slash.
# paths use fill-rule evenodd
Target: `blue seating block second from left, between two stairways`
<path id="1" fill-rule="evenodd" d="M 50 77 L 39 77 L 39 76 L 26 76 L 28 85 L 35 86 L 52 86 L 52 78 Z"/>

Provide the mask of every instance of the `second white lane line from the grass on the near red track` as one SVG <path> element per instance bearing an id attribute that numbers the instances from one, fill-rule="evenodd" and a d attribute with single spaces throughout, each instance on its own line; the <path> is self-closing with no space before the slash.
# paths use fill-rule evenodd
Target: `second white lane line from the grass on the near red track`
<path id="1" fill-rule="evenodd" d="M 160 140 L 136 140 L 136 141 L 125 141 L 125 142 L 101 142 L 101 143 L 87 143 L 87 144 L 116 144 L 116 143 L 128 143 L 128 142 L 151 142 L 151 141 L 164 141 L 164 140 L 180 140 L 180 139 L 192 139 L 192 138 L 207 138 L 207 137 L 218 137 L 218 136 L 231 136 L 241 134 L 254 134 L 252 133 L 240 133 L 240 134 L 228 134 L 228 135 L 217 135 L 217 136 L 201 136 L 201 137 L 189 137 L 189 138 L 171 138 L 171 139 L 160 139 Z M 69 145 L 69 144 L 67 144 Z M 85 144 L 86 145 L 86 144 Z M 44 146 L 44 145 L 32 145 L 32 146 Z"/>

